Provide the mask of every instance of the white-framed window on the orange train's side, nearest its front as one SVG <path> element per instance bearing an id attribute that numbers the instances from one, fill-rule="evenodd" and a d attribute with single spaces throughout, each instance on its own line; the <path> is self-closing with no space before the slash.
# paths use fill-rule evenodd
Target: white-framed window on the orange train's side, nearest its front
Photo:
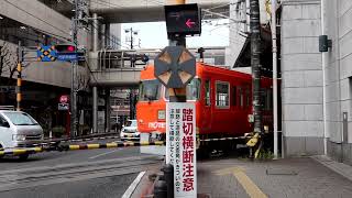
<path id="1" fill-rule="evenodd" d="M 229 82 L 216 82 L 216 106 L 220 108 L 228 108 L 230 105 L 230 85 Z"/>

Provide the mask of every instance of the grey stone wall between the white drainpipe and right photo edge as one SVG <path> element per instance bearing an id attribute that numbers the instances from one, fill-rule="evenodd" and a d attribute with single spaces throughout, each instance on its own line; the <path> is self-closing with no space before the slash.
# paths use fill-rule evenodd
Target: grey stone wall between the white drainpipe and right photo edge
<path id="1" fill-rule="evenodd" d="M 328 154 L 352 165 L 352 1 L 327 0 L 324 26 L 332 48 L 327 53 Z M 342 113 L 348 113 L 343 130 Z M 348 139 L 343 139 L 346 133 Z M 343 142 L 343 143 L 342 143 Z"/>

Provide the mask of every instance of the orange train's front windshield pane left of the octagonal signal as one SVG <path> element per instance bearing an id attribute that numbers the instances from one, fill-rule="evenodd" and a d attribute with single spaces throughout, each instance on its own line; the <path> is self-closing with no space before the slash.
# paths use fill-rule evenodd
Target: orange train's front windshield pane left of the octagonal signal
<path id="1" fill-rule="evenodd" d="M 157 79 L 142 81 L 140 84 L 140 100 L 157 100 L 160 96 L 160 85 Z"/>

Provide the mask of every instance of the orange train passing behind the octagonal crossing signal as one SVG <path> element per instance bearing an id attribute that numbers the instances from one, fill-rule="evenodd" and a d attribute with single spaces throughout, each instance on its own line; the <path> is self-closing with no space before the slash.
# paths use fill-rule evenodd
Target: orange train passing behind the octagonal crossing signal
<path id="1" fill-rule="evenodd" d="M 272 129 L 272 79 L 262 78 L 263 125 Z M 198 140 L 243 136 L 251 132 L 252 76 L 197 63 L 196 77 L 187 86 L 187 101 L 196 103 Z M 167 89 L 154 77 L 154 66 L 141 72 L 136 103 L 139 131 L 163 139 L 166 131 Z M 152 135 L 155 134 L 155 135 Z M 209 144 L 208 141 L 201 141 Z"/>

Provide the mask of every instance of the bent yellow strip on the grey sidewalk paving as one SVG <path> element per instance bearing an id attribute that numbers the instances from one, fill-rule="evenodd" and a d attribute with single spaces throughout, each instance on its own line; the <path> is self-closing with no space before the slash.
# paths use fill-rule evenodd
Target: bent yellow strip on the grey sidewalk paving
<path id="1" fill-rule="evenodd" d="M 241 167 L 219 169 L 215 173 L 217 175 L 232 174 L 251 198 L 267 198 L 267 196 L 252 182 L 252 179 L 245 175 L 244 169 Z"/>

